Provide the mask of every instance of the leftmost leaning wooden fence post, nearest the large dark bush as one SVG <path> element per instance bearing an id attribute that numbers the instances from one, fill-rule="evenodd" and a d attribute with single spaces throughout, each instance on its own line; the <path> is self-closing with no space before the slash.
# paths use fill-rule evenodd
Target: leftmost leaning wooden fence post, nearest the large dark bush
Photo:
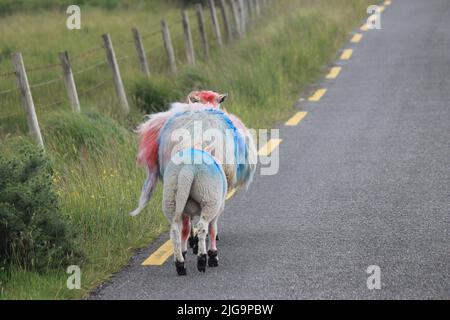
<path id="1" fill-rule="evenodd" d="M 25 113 L 27 114 L 27 123 L 30 134 L 36 140 L 36 143 L 44 149 L 44 141 L 42 140 L 41 129 L 39 128 L 36 110 L 34 109 L 33 97 L 31 95 L 25 65 L 23 64 L 22 53 L 14 53 L 12 56 L 12 63 L 16 72 L 17 85 L 22 97 L 23 107 L 25 109 Z"/>

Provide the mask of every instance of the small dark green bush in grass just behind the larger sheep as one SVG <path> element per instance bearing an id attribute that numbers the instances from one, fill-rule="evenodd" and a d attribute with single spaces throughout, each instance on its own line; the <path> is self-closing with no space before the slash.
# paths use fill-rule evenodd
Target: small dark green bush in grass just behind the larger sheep
<path id="1" fill-rule="evenodd" d="M 138 81 L 132 90 L 134 104 L 147 114 L 165 111 L 169 103 L 180 98 L 181 94 L 173 88 L 173 84 L 165 81 Z"/>

